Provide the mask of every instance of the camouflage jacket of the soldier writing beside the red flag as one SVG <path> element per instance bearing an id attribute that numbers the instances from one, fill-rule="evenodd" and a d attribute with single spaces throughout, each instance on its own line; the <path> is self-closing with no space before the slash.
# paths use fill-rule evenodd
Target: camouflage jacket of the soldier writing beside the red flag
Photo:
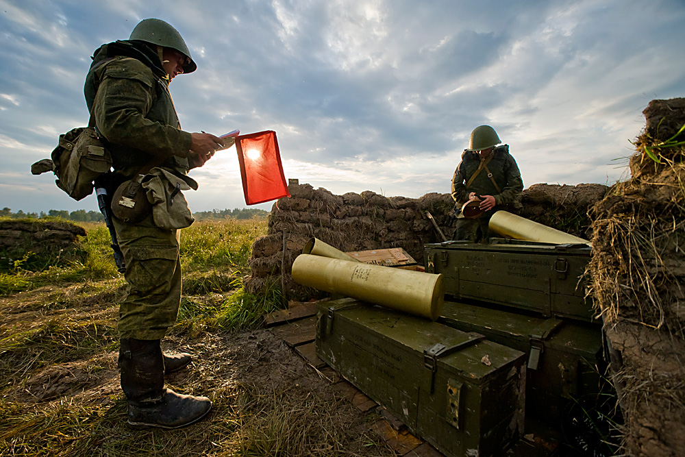
<path id="1" fill-rule="evenodd" d="M 158 158 L 165 168 L 186 174 L 192 140 L 180 129 L 157 54 L 140 42 L 116 41 L 102 45 L 92 60 L 86 104 L 114 171 L 131 177 Z"/>

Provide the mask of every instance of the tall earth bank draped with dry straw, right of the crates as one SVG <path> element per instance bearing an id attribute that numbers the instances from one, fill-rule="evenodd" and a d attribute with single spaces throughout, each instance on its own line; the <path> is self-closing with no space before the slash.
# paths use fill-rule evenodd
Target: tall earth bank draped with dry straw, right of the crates
<path id="1" fill-rule="evenodd" d="M 685 99 L 652 101 L 644 114 L 632 180 L 593 208 L 590 273 L 626 419 L 626 451 L 684 455 L 685 164 L 682 145 L 656 146 L 685 124 Z"/>

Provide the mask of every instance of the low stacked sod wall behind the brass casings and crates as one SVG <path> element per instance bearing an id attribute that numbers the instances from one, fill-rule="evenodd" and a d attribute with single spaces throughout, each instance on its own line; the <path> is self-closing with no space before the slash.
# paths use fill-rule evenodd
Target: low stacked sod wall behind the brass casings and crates
<path id="1" fill-rule="evenodd" d="M 454 232 L 454 202 L 449 194 L 427 193 L 418 199 L 384 197 L 370 190 L 334 195 L 324 188 L 291 181 L 291 197 L 275 203 L 269 215 L 269 233 L 252 245 L 251 276 L 245 282 L 252 293 L 282 288 L 289 299 L 321 297 L 321 293 L 296 284 L 290 275 L 292 262 L 311 238 L 341 251 L 402 247 L 423 264 L 423 246 L 442 241 L 427 214 L 448 239 Z M 588 208 L 606 190 L 601 184 L 535 184 L 523 191 L 521 216 L 590 238 Z"/>

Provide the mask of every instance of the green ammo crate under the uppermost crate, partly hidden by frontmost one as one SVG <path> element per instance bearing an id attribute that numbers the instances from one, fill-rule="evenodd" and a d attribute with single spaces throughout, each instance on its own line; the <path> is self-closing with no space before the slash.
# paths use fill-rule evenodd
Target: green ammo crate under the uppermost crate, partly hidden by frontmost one
<path id="1" fill-rule="evenodd" d="M 560 419 L 573 399 L 580 401 L 600 391 L 604 362 L 597 325 L 454 301 L 445 301 L 438 322 L 525 352 L 528 417 Z"/>

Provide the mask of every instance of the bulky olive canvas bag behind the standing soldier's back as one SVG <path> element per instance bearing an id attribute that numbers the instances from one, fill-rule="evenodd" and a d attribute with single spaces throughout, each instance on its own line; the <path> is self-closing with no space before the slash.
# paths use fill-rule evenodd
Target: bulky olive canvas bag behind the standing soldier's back
<path id="1" fill-rule="evenodd" d="M 112 156 L 100 141 L 93 127 L 77 127 L 60 135 L 59 144 L 49 159 L 36 162 L 31 167 L 34 175 L 53 171 L 55 184 L 69 197 L 80 200 L 92 194 L 93 181 L 112 167 Z"/>

